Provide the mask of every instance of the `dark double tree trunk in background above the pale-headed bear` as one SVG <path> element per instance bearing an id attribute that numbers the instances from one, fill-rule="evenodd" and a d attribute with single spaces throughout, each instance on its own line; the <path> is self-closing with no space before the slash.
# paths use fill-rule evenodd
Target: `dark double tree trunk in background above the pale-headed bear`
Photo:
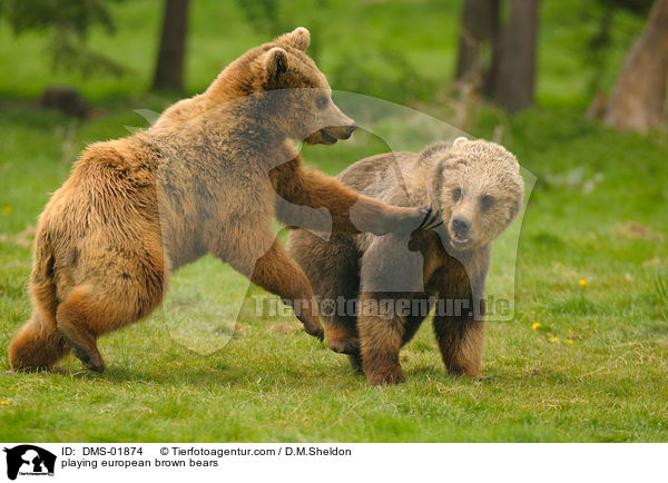
<path id="1" fill-rule="evenodd" d="M 509 0 L 510 14 L 501 22 L 501 0 L 465 0 L 456 77 L 478 82 L 500 106 L 517 112 L 533 103 L 538 0 Z M 481 48 L 491 43 L 484 67 Z"/>

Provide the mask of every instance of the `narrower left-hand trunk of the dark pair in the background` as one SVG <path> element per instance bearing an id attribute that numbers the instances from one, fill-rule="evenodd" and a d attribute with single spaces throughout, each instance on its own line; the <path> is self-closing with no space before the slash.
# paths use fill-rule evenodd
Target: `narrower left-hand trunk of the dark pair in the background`
<path id="1" fill-rule="evenodd" d="M 464 0 L 460 27 L 456 80 L 481 82 L 481 47 L 499 30 L 500 0 Z"/>

